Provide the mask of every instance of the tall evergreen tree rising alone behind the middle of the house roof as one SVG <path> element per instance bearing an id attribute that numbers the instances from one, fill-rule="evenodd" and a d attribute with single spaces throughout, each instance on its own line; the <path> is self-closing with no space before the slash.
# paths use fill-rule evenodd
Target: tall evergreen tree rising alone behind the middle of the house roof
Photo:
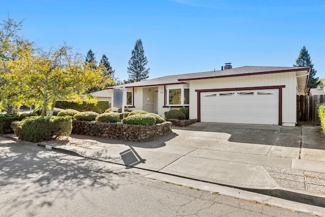
<path id="1" fill-rule="evenodd" d="M 149 78 L 150 68 L 146 69 L 148 64 L 147 57 L 144 55 L 144 49 L 141 39 L 138 39 L 134 49 L 132 50 L 132 56 L 128 61 L 127 73 L 128 80 L 131 82 L 143 81 Z"/>

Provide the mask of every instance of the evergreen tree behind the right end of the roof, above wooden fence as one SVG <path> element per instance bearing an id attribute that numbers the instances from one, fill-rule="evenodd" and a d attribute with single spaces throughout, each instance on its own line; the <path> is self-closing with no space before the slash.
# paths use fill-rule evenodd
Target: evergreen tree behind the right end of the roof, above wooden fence
<path id="1" fill-rule="evenodd" d="M 307 88 L 316 88 L 317 85 L 320 83 L 320 81 L 318 81 L 319 78 L 315 77 L 317 70 L 314 69 L 314 64 L 311 63 L 310 55 L 305 45 L 300 50 L 300 54 L 298 56 L 298 59 L 296 59 L 296 64 L 294 65 L 294 67 L 310 67 Z"/>

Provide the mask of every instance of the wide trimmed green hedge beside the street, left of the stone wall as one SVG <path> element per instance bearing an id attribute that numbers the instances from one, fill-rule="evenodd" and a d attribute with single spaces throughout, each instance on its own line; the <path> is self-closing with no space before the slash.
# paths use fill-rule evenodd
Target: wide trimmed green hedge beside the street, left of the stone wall
<path id="1" fill-rule="evenodd" d="M 52 140 L 59 136 L 69 136 L 71 134 L 72 117 L 28 117 L 21 121 L 13 122 L 12 128 L 19 139 L 30 142 Z"/>

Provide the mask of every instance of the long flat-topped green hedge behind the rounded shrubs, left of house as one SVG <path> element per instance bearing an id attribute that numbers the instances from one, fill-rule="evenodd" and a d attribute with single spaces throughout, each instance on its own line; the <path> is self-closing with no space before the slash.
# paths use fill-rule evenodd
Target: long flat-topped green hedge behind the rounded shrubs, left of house
<path id="1" fill-rule="evenodd" d="M 82 101 L 82 104 L 79 104 L 74 100 L 58 100 L 55 103 L 56 108 L 60 109 L 75 109 L 77 111 L 94 111 L 99 114 L 105 112 L 106 109 L 109 108 L 108 100 L 99 100 L 97 105 L 94 103 L 88 103 L 87 101 Z"/>

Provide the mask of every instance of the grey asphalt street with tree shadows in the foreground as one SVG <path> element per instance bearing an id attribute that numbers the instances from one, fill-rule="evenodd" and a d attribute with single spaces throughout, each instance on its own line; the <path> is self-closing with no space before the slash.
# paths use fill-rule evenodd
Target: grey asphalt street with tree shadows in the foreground
<path id="1" fill-rule="evenodd" d="M 317 214 L 317 210 L 298 212 L 147 175 L 150 173 L 145 170 L 69 156 L 0 137 L 0 216 Z"/>

